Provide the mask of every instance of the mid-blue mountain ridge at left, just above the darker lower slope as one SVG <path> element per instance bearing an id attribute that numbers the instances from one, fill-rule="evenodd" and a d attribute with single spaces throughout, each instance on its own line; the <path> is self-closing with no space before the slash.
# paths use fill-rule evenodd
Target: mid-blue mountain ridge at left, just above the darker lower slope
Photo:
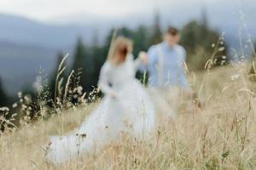
<path id="1" fill-rule="evenodd" d="M 0 14 L 0 40 L 44 48 L 70 48 L 77 37 L 90 42 L 93 26 L 43 24 L 20 16 Z"/>

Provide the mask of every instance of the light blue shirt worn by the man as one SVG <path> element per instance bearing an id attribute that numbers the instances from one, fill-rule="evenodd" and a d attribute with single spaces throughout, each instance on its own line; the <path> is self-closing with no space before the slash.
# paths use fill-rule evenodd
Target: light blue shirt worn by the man
<path id="1" fill-rule="evenodd" d="M 161 56 L 160 56 L 161 55 Z M 161 58 L 160 58 L 161 57 Z M 161 81 L 159 81 L 159 63 L 161 59 Z M 178 86 L 189 88 L 189 83 L 183 70 L 183 62 L 186 59 L 185 49 L 176 44 L 173 47 L 166 42 L 154 45 L 148 49 L 149 87 Z"/>

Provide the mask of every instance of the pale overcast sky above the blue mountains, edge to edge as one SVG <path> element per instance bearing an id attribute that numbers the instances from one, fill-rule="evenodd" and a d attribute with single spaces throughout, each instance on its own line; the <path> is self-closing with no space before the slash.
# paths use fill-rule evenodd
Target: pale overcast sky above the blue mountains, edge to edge
<path id="1" fill-rule="evenodd" d="M 255 10 L 255 0 L 0 0 L 0 14 L 16 14 L 44 22 L 65 22 L 81 14 L 121 18 L 131 14 L 152 14 L 156 9 L 193 15 L 201 8 L 218 8 L 219 5 L 230 13 L 235 3 L 236 11 L 240 3 L 246 4 L 246 11 Z"/>

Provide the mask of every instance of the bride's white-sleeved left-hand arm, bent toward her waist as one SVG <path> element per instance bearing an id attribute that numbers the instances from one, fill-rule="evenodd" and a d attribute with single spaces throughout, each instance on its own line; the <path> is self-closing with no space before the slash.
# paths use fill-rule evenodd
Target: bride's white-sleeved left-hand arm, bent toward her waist
<path id="1" fill-rule="evenodd" d="M 105 63 L 102 66 L 102 70 L 99 77 L 98 87 L 102 91 L 103 94 L 113 95 L 113 88 L 109 85 L 109 70 L 110 65 L 109 63 Z"/>

